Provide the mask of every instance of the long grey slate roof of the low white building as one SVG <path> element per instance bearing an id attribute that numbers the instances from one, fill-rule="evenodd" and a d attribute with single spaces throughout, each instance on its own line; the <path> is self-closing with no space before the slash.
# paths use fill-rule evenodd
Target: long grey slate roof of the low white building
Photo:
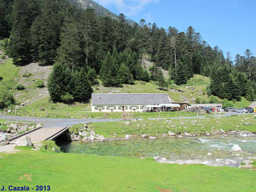
<path id="1" fill-rule="evenodd" d="M 152 105 L 171 103 L 168 94 L 162 93 L 94 93 L 92 105 Z"/>

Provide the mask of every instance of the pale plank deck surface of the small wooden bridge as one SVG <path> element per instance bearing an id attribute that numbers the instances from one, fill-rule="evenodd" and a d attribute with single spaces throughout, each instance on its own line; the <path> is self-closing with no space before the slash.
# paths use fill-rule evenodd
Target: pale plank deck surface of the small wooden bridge
<path id="1" fill-rule="evenodd" d="M 33 143 L 35 141 L 52 140 L 67 129 L 67 127 L 41 128 L 26 135 L 31 138 L 31 142 Z M 14 141 L 16 140 L 18 140 L 18 138 Z"/>

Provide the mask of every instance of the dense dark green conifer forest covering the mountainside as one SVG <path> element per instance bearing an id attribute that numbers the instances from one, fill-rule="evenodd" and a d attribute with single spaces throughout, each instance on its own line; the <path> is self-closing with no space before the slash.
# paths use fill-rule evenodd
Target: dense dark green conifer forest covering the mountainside
<path id="1" fill-rule="evenodd" d="M 109 87 L 142 80 L 165 88 L 186 84 L 194 74 L 211 78 L 208 95 L 255 99 L 253 53 L 247 49 L 232 60 L 191 26 L 181 32 L 144 19 L 132 26 L 124 14 L 117 20 L 96 16 L 95 10 L 76 8 L 66 0 L 1 0 L 0 19 L 2 45 L 15 65 L 53 65 L 48 79 L 52 100 L 88 98 L 97 78 Z M 147 70 L 145 60 L 154 66 Z M 161 68 L 169 70 L 169 79 Z"/>

